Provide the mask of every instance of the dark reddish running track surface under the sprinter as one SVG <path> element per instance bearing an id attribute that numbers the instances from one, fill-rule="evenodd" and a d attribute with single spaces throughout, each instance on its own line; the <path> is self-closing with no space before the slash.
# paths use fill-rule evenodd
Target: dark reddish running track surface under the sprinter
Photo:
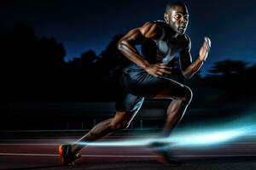
<path id="1" fill-rule="evenodd" d="M 146 136 L 137 136 L 145 138 Z M 131 139 L 133 135 L 118 133 L 102 141 Z M 177 169 L 177 170 L 240 170 L 256 169 L 256 138 L 226 142 L 204 148 L 177 148 L 172 153 L 183 162 L 181 166 L 160 163 L 158 155 L 146 146 L 95 147 L 82 150 L 83 157 L 75 166 L 62 167 L 57 145 L 70 143 L 79 136 L 29 136 L 0 139 L 0 169 Z"/>

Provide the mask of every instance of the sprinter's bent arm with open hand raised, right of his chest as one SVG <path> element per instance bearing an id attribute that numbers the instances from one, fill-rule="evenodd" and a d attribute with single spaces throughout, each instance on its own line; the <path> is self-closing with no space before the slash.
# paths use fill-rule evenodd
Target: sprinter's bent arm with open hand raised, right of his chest
<path id="1" fill-rule="evenodd" d="M 207 59 L 208 52 L 211 47 L 211 41 L 208 37 L 205 37 L 205 42 L 201 46 L 199 56 L 192 62 L 191 54 L 190 54 L 190 46 L 191 42 L 188 39 L 188 44 L 186 48 L 180 52 L 180 65 L 183 71 L 183 76 L 186 78 L 193 77 L 197 71 L 200 70 L 201 65 Z"/>

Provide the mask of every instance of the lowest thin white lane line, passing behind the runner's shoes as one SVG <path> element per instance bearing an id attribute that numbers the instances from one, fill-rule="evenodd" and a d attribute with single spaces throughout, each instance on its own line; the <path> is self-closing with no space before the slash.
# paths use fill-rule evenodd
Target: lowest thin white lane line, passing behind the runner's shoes
<path id="1" fill-rule="evenodd" d="M 24 153 L 0 153 L 0 156 L 59 156 L 57 154 L 24 154 Z M 133 158 L 147 158 L 147 157 L 157 157 L 157 156 L 117 156 L 117 155 L 82 155 L 83 157 L 133 157 Z M 255 154 L 248 155 L 181 155 L 176 157 L 241 157 L 241 156 L 256 156 Z"/>

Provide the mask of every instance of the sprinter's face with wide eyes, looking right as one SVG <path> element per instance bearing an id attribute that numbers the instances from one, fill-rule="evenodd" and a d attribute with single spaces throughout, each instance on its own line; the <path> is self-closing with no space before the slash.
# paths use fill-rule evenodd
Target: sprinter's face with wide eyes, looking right
<path id="1" fill-rule="evenodd" d="M 166 23 L 179 35 L 183 35 L 189 24 L 188 9 L 183 6 L 176 6 L 165 14 Z"/>

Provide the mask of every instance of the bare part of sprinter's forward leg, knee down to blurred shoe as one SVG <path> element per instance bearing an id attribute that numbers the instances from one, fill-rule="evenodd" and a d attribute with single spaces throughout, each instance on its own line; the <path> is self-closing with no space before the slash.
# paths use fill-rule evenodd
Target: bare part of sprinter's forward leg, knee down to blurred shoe
<path id="1" fill-rule="evenodd" d="M 174 127 L 181 121 L 184 112 L 186 111 L 192 99 L 192 91 L 187 86 L 168 79 L 166 88 L 154 96 L 154 99 L 172 99 L 171 104 L 167 108 L 166 124 L 160 133 L 162 138 L 166 138 L 172 133 Z M 169 150 L 166 150 L 166 144 L 161 142 L 154 142 L 151 147 L 158 153 L 158 160 L 164 163 L 171 163 L 175 165 L 181 164 L 175 157 L 170 155 Z"/>

